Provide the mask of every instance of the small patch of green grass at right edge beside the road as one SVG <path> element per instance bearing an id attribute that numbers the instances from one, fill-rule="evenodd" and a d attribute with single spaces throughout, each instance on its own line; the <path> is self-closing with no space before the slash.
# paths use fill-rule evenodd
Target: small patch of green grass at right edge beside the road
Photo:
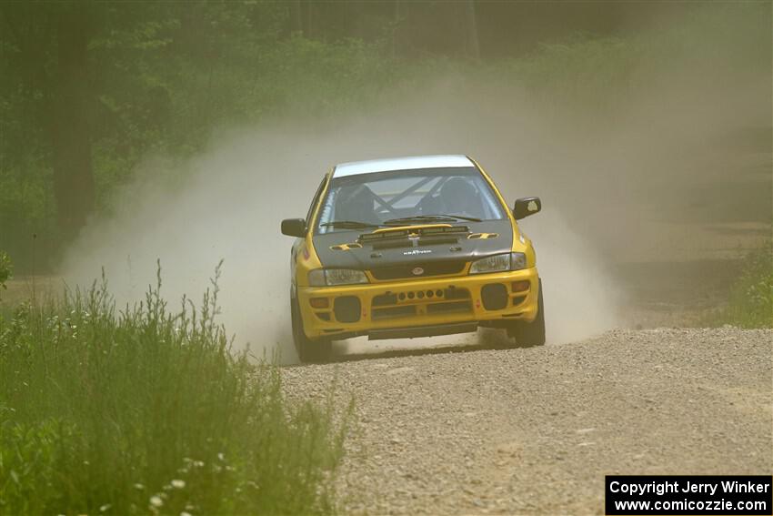
<path id="1" fill-rule="evenodd" d="M 740 328 L 773 328 L 773 241 L 749 253 L 730 289 L 719 324 Z"/>

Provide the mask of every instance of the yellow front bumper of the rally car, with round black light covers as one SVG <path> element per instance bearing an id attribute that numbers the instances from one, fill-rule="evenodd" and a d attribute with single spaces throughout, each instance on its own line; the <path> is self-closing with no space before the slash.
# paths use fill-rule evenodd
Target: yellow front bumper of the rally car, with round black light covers
<path id="1" fill-rule="evenodd" d="M 508 321 L 537 317 L 538 294 L 537 268 L 297 290 L 309 339 L 383 338 L 376 335 L 388 334 L 388 329 L 407 329 L 409 334 L 445 325 L 506 327 Z"/>

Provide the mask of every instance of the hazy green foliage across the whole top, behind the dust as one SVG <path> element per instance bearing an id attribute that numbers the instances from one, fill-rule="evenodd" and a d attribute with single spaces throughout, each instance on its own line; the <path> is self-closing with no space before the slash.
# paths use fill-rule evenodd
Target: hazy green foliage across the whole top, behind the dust
<path id="1" fill-rule="evenodd" d="M 614 124 L 642 90 L 689 97 L 706 84 L 743 81 L 770 62 L 770 47 L 759 45 L 770 30 L 764 3 L 686 6 L 678 23 L 626 34 L 567 28 L 525 46 L 536 48 L 528 54 L 480 62 L 441 48 L 428 52 L 428 46 L 412 56 L 396 52 L 428 32 L 458 32 L 444 29 L 457 25 L 440 19 L 450 16 L 456 24 L 456 9 L 408 4 L 397 21 L 395 5 L 377 2 L 78 3 L 90 19 L 84 112 L 96 209 L 109 209 L 111 194 L 131 181 L 140 160 L 185 159 L 218 129 L 388 105 L 448 76 L 524 94 L 548 119 L 568 124 L 567 110 L 586 110 Z M 56 249 L 66 244 L 56 224 L 50 126 L 58 84 L 56 20 L 74 5 L 0 6 L 0 76 L 6 79 L 0 81 L 0 247 L 25 271 L 54 265 L 42 257 L 55 262 Z M 294 18 L 293 5 L 303 15 Z M 512 9 L 511 15 L 539 11 L 523 3 L 500 8 Z M 545 11 L 560 12 L 572 11 Z M 484 25 L 479 30 L 487 33 Z M 515 48 L 520 40 L 508 31 Z M 582 123 L 583 117 L 574 119 Z"/>

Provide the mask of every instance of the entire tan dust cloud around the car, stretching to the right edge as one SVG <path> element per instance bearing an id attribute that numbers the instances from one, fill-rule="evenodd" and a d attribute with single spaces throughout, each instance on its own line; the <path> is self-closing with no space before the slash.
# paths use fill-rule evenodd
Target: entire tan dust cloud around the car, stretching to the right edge
<path id="1" fill-rule="evenodd" d="M 643 86 L 613 113 L 447 76 L 356 116 L 233 128 L 185 164 L 148 159 L 115 196 L 113 216 L 92 221 L 69 250 L 65 277 L 87 283 L 104 266 L 117 300 L 136 301 L 155 284 L 158 258 L 162 294 L 174 303 L 200 296 L 223 258 L 226 328 L 254 355 L 278 350 L 292 362 L 291 238 L 279 233 L 281 219 L 306 215 L 336 163 L 467 154 L 508 200 L 542 198 L 544 211 L 521 228 L 537 249 L 548 343 L 583 339 L 621 324 L 617 262 L 673 258 L 658 224 L 685 218 L 695 187 L 728 174 L 718 138 L 769 125 L 766 73 L 698 84 L 694 72 L 637 70 L 631 80 Z"/>

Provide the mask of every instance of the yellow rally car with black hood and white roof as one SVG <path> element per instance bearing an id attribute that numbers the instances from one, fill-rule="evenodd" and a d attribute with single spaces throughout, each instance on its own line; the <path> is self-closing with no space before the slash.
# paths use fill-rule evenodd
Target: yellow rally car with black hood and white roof
<path id="1" fill-rule="evenodd" d="M 344 163 L 322 180 L 306 218 L 282 221 L 292 248 L 293 338 L 302 361 L 324 361 L 331 340 L 427 337 L 507 329 L 520 346 L 545 343 L 545 309 L 531 240 L 466 156 Z"/>

